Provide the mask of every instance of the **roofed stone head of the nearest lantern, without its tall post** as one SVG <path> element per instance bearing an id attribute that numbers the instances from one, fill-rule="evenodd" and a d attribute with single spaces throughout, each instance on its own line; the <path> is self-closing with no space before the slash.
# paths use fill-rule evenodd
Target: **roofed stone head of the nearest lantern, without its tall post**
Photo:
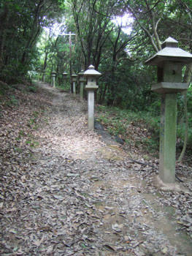
<path id="1" fill-rule="evenodd" d="M 164 94 L 188 89 L 188 83 L 182 83 L 182 68 L 191 62 L 192 54 L 178 48 L 177 40 L 172 37 L 161 47 L 162 50 L 145 62 L 158 67 L 158 83 L 152 86 L 152 91 Z"/>

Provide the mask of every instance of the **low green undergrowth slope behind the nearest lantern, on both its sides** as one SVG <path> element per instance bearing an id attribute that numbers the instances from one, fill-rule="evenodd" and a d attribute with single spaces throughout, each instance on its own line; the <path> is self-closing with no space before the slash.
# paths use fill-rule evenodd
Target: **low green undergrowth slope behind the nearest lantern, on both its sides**
<path id="1" fill-rule="evenodd" d="M 155 104 L 155 107 L 160 107 L 160 102 Z M 180 121 L 180 105 L 178 105 L 178 110 L 177 157 L 183 148 L 185 134 L 185 123 L 183 124 L 183 121 Z M 156 111 L 155 108 L 150 108 L 148 111 L 134 111 L 98 105 L 96 119 L 104 125 L 114 138 L 119 137 L 122 139 L 125 146 L 138 148 L 140 152 L 158 156 L 160 111 Z M 191 118 L 189 118 L 189 127 L 191 127 L 191 123 Z M 188 133 L 186 161 L 190 159 L 192 149 L 192 132 L 190 128 Z"/>

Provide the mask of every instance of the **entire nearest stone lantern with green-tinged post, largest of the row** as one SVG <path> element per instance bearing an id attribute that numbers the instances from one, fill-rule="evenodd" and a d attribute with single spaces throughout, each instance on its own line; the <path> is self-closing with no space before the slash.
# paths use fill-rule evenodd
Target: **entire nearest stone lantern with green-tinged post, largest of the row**
<path id="1" fill-rule="evenodd" d="M 158 67 L 158 83 L 151 89 L 161 94 L 159 178 L 167 185 L 175 182 L 177 93 L 188 89 L 188 83 L 182 83 L 182 68 L 192 62 L 192 54 L 177 45 L 169 37 L 162 50 L 145 62 Z"/>

